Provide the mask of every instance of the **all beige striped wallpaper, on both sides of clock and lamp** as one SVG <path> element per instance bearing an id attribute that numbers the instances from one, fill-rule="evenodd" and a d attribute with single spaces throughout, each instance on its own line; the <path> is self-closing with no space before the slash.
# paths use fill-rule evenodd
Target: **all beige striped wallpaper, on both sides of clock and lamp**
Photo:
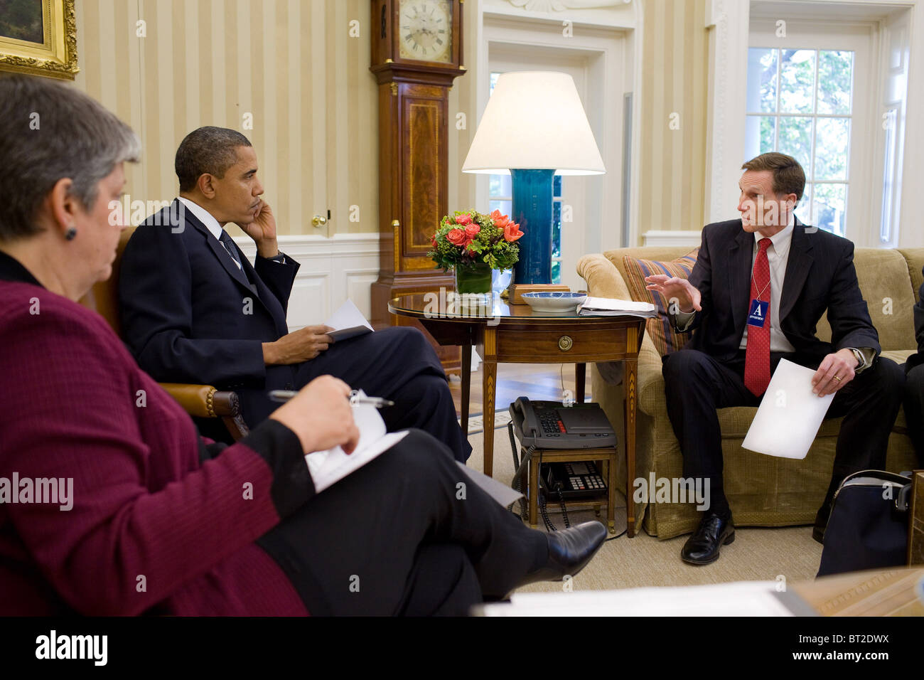
<path id="1" fill-rule="evenodd" d="M 636 88 L 638 233 L 699 229 L 707 0 L 635 1 L 644 17 Z M 449 93 L 450 208 L 475 200 L 475 176 L 456 168 L 477 123 L 478 6 L 463 4 L 463 63 L 472 72 Z M 281 234 L 378 230 L 368 0 L 80 0 L 77 20 L 77 86 L 128 121 L 143 142 L 143 162 L 128 168 L 133 200 L 175 196 L 176 145 L 189 130 L 220 125 L 253 142 Z M 668 127 L 674 112 L 679 130 Z M 457 113 L 466 114 L 464 130 L 456 130 Z M 245 114 L 252 114 L 252 130 L 244 129 Z M 327 228 L 313 228 L 311 216 L 328 209 Z M 359 221 L 350 221 L 351 213 Z"/>

